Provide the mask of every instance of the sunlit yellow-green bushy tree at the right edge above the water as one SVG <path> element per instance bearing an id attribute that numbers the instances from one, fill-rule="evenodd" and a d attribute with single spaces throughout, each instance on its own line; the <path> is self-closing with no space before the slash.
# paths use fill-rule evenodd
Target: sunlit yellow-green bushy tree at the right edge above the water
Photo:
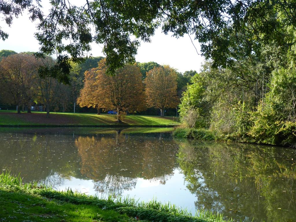
<path id="1" fill-rule="evenodd" d="M 269 92 L 252 112 L 249 135 L 256 142 L 296 147 L 296 70 L 293 63 L 272 72 Z"/>

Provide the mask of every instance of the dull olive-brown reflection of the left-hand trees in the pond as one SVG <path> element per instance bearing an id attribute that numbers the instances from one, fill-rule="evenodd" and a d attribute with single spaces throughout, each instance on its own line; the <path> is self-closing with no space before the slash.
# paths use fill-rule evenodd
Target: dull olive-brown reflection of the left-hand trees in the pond
<path id="1" fill-rule="evenodd" d="M 56 173 L 64 179 L 75 176 L 79 161 L 70 137 L 1 134 L 0 168 L 11 174 L 20 173 L 27 182 L 45 182 L 46 178 Z M 52 182 L 57 182 L 57 179 Z"/>

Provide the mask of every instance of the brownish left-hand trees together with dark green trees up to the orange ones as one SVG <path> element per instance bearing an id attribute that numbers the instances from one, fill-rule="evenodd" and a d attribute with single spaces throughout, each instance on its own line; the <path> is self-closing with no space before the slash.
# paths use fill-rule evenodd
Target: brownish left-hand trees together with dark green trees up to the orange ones
<path id="1" fill-rule="evenodd" d="M 18 106 L 18 112 L 38 104 L 49 111 L 73 111 L 83 87 L 84 72 L 97 66 L 103 57 L 86 57 L 83 63 L 71 62 L 68 84 L 57 80 L 60 70 L 51 57 L 36 59 L 34 52 L 17 54 L 12 50 L 0 51 L 1 107 Z M 79 107 L 76 107 L 79 108 Z"/>

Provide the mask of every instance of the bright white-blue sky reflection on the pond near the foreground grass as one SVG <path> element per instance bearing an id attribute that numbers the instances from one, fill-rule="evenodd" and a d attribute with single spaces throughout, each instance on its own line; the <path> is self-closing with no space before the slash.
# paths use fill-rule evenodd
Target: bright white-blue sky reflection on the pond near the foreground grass
<path id="1" fill-rule="evenodd" d="M 53 175 L 50 177 L 57 177 Z M 52 181 L 53 178 L 47 178 L 46 180 Z M 88 195 L 105 196 L 94 188 L 93 180 L 84 180 L 71 177 L 70 179 L 64 179 L 63 183 L 54 188 L 57 190 L 66 190 L 71 188 L 73 191 L 77 190 L 81 193 Z M 123 196 L 134 197 L 139 201 L 148 201 L 153 198 L 157 198 L 158 201 L 163 203 L 171 202 L 178 203 L 179 207 L 187 208 L 193 214 L 195 213 L 194 201 L 196 197 L 189 192 L 184 183 L 184 174 L 180 173 L 180 169 L 176 168 L 173 171 L 173 175 L 163 184 L 160 179 L 136 179 L 136 185 L 130 190 L 124 190 Z"/>

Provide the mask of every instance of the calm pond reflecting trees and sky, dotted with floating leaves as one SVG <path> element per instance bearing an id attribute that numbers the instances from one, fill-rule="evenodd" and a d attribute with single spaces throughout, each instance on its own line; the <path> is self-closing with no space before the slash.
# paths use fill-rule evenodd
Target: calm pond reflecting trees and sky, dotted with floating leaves
<path id="1" fill-rule="evenodd" d="M 296 221 L 294 149 L 176 140 L 171 130 L 0 128 L 0 170 L 58 190 L 157 198 L 193 214 Z"/>

